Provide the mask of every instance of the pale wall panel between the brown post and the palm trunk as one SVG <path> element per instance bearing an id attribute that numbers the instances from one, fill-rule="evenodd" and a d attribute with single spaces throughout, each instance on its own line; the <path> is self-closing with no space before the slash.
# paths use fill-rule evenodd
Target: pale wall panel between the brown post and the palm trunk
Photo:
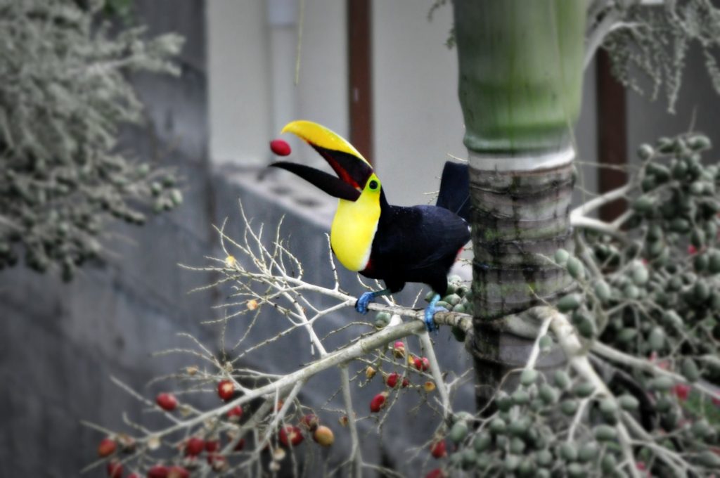
<path id="1" fill-rule="evenodd" d="M 447 154 L 467 157 L 457 58 L 444 43 L 452 8 L 428 22 L 429 1 L 372 4 L 374 158 L 393 204 L 425 204 Z"/>

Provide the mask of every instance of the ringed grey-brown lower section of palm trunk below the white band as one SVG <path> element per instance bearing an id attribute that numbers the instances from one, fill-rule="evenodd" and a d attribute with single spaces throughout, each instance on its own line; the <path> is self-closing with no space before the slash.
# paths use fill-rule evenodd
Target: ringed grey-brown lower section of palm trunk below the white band
<path id="1" fill-rule="evenodd" d="M 554 302 L 572 287 L 552 258 L 570 245 L 572 163 L 536 171 L 488 171 L 470 165 L 474 356 L 479 406 L 503 376 L 524 366 L 534 338 L 499 332 L 492 321 Z M 538 369 L 562 364 L 562 353 L 542 356 Z M 513 384 L 510 380 L 508 385 Z"/>

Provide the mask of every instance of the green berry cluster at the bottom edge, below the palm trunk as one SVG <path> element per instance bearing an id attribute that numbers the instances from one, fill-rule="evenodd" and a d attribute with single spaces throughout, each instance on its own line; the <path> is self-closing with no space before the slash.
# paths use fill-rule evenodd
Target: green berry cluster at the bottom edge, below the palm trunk
<path id="1" fill-rule="evenodd" d="M 448 438 L 456 445 L 451 471 L 495 476 L 619 476 L 622 461 L 613 426 L 634 397 L 600 398 L 588 382 L 559 370 L 552 377 L 526 369 L 511 394 L 499 392 L 497 411 L 487 418 L 460 412 L 451 418 Z M 573 426 L 575 416 L 593 410 L 590 425 Z M 451 473 L 452 474 L 452 473 Z"/>

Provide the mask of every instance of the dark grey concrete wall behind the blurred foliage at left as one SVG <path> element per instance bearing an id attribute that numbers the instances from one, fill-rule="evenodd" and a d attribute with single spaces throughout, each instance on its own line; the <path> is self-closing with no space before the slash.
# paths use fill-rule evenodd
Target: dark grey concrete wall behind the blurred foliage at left
<path id="1" fill-rule="evenodd" d="M 151 35 L 176 31 L 186 46 L 180 78 L 133 78 L 149 121 L 126 130 L 122 145 L 178 168 L 187 179 L 186 201 L 146 227 L 115 227 L 105 241 L 108 261 L 84 268 L 71 284 L 22 267 L 0 274 L 1 477 L 79 476 L 102 438 L 81 420 L 122 429 L 123 411 L 143 415 L 110 376 L 153 397 L 158 387 L 145 385 L 174 367 L 171 358 L 150 360 L 150 353 L 177 346 L 179 331 L 217 343 L 218 331 L 199 325 L 214 298 L 186 294 L 210 276 L 179 274 L 177 266 L 198 261 L 213 243 L 204 2 L 133 5 Z"/>

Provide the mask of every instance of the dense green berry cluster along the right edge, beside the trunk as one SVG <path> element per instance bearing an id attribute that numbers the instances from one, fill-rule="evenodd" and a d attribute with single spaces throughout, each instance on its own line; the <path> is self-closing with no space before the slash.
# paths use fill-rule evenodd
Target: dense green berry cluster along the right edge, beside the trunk
<path id="1" fill-rule="evenodd" d="M 702 161 L 709 145 L 705 136 L 684 135 L 641 146 L 640 192 L 626 224 L 631 243 L 595 241 L 603 285 L 585 284 L 573 317 L 577 323 L 590 312 L 601 341 L 654 354 L 691 381 L 720 383 L 720 168 Z"/>

